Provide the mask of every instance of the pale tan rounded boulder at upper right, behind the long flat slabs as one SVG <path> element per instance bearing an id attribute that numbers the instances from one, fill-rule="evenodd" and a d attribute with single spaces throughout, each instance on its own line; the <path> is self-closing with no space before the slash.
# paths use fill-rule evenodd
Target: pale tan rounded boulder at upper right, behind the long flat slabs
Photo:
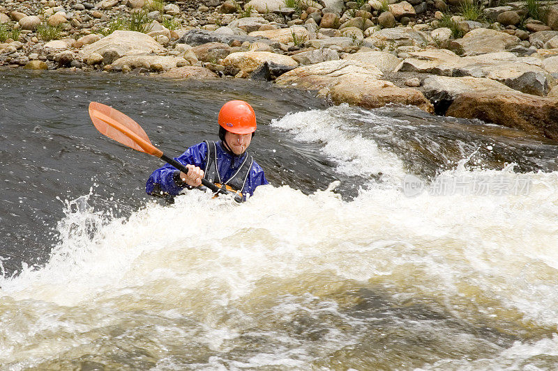
<path id="1" fill-rule="evenodd" d="M 520 42 L 517 36 L 492 29 L 474 29 L 463 38 L 453 41 L 465 56 L 502 52 Z"/>

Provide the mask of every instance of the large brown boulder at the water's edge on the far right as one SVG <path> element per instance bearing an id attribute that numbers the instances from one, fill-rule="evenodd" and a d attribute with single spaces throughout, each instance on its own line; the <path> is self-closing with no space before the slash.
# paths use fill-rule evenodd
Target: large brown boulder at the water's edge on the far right
<path id="1" fill-rule="evenodd" d="M 537 97 L 519 92 L 464 93 L 453 101 L 446 114 L 478 118 L 558 140 L 556 97 Z"/>

